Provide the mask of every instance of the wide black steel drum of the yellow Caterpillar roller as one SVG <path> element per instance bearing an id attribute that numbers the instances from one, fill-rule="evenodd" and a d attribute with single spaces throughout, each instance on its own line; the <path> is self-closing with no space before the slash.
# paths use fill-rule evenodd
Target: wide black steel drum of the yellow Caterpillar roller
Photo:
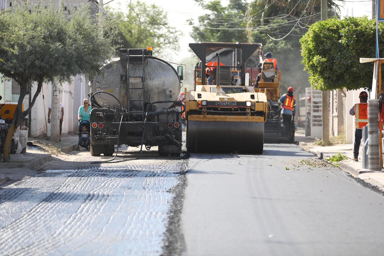
<path id="1" fill-rule="evenodd" d="M 264 123 L 188 121 L 188 152 L 263 153 Z"/>

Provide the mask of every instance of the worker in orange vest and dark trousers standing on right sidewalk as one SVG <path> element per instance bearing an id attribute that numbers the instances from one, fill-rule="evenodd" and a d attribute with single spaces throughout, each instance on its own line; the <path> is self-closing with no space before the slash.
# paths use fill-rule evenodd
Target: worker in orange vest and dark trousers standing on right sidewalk
<path id="1" fill-rule="evenodd" d="M 368 93 L 362 91 L 359 94 L 360 103 L 355 104 L 351 110 L 349 110 L 349 114 L 355 116 L 355 143 L 353 145 L 353 161 L 359 161 L 359 148 L 362 137 L 362 128 L 368 124 Z"/>

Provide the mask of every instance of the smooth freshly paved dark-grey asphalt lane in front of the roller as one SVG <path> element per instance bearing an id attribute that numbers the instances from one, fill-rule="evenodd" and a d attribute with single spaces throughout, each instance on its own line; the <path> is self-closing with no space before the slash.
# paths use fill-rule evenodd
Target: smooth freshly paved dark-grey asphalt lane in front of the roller
<path id="1" fill-rule="evenodd" d="M 313 158 L 288 144 L 191 154 L 183 255 L 381 255 L 384 197 L 338 168 L 298 163 Z"/>

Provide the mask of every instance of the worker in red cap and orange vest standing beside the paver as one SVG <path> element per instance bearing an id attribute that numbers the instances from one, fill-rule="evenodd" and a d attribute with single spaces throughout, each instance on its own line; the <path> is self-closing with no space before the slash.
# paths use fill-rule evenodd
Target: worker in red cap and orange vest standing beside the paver
<path id="1" fill-rule="evenodd" d="M 279 103 L 281 104 L 281 113 L 283 114 L 285 136 L 290 136 L 292 133 L 292 116 L 294 116 L 296 112 L 296 100 L 295 96 L 293 96 L 292 87 L 288 87 L 287 93 L 281 96 Z"/>

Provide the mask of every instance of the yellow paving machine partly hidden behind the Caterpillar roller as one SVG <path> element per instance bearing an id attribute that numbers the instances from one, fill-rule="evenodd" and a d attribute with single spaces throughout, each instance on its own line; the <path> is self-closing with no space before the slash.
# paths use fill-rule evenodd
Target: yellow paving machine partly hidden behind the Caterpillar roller
<path id="1" fill-rule="evenodd" d="M 263 62 L 260 67 L 260 81 L 255 92 L 264 93 L 268 100 L 267 121 L 265 122 L 265 138 L 295 141 L 295 121 L 292 118 L 291 133 L 286 135 L 282 124 L 280 98 L 281 71 L 275 70 L 272 62 Z"/>

